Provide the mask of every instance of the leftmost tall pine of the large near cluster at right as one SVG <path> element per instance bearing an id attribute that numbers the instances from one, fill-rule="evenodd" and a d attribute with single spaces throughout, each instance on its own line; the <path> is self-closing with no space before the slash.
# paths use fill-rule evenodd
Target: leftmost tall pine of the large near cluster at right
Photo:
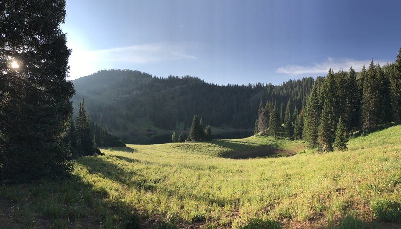
<path id="1" fill-rule="evenodd" d="M 318 128 L 320 118 L 320 104 L 316 83 L 312 87 L 306 103 L 303 137 L 308 142 L 309 147 L 314 148 L 318 144 Z"/>

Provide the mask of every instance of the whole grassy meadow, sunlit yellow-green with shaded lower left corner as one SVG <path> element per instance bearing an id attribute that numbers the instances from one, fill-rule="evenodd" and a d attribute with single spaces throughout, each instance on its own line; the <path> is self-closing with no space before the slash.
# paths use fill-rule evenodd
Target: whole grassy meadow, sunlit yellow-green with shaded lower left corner
<path id="1" fill-rule="evenodd" d="M 65 180 L 0 187 L 0 227 L 397 228 L 372 207 L 401 201 L 400 136 L 328 154 L 270 137 L 103 149 Z"/>

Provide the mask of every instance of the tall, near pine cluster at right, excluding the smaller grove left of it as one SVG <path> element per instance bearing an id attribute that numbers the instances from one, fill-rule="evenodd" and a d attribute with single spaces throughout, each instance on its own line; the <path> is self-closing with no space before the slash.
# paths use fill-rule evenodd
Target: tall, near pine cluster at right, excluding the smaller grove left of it
<path id="1" fill-rule="evenodd" d="M 381 67 L 372 60 L 356 78 L 349 71 L 333 73 L 314 83 L 305 108 L 304 139 L 321 151 L 344 149 L 342 135 L 397 123 L 401 91 L 401 49 L 395 62 Z"/>

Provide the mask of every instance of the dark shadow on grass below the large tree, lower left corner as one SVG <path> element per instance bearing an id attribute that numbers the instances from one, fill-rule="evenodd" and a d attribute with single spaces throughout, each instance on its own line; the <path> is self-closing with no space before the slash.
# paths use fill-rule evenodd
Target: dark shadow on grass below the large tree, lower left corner
<path id="1" fill-rule="evenodd" d="M 0 187 L 0 228 L 143 228 L 146 220 L 79 175 Z M 118 217 L 116 217 L 118 216 Z M 142 221 L 142 222 L 141 222 Z"/>

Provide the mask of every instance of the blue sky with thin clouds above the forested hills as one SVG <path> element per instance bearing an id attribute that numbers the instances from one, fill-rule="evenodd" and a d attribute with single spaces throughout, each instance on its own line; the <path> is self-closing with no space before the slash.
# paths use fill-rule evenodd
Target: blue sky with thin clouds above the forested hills
<path id="1" fill-rule="evenodd" d="M 385 64 L 399 0 L 67 0 L 70 79 L 102 69 L 280 84 Z"/>

